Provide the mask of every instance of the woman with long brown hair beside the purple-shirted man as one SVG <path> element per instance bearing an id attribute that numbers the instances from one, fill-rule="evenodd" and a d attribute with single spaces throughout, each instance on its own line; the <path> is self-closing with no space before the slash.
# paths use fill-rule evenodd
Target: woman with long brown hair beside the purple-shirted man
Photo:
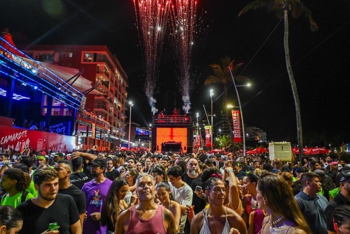
<path id="1" fill-rule="evenodd" d="M 118 177 L 113 180 L 101 211 L 101 224 L 107 226 L 105 234 L 114 234 L 119 214 L 128 208 L 124 201 L 128 191 L 129 185 L 124 178 Z"/>

